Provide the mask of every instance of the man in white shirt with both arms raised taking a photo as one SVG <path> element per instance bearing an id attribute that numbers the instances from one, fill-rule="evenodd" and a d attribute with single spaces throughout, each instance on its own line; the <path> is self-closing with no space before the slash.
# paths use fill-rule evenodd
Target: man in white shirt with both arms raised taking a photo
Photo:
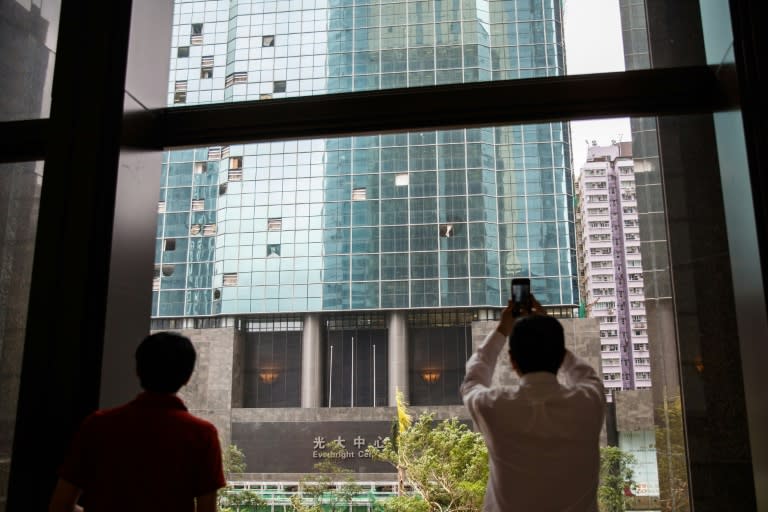
<path id="1" fill-rule="evenodd" d="M 507 337 L 520 385 L 491 387 Z M 467 361 L 461 394 L 488 446 L 484 511 L 597 512 L 603 384 L 538 301 L 530 312 L 509 301 Z"/>

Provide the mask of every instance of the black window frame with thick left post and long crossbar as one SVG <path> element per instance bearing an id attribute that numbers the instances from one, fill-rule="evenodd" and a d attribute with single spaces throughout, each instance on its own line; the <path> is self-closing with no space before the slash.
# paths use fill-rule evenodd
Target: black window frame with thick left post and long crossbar
<path id="1" fill-rule="evenodd" d="M 666 0 L 648 2 L 665 8 L 672 5 Z M 132 18 L 131 7 L 160 3 L 167 2 L 63 0 L 51 118 L 0 122 L 0 163 L 46 160 L 39 224 L 42 235 L 38 236 L 35 254 L 17 416 L 17 425 L 25 428 L 24 432 L 17 428 L 8 510 L 45 508 L 54 468 L 66 440 L 78 420 L 98 404 L 103 391 L 102 352 L 108 344 L 104 341 L 105 310 L 114 298 L 106 278 L 115 243 L 111 216 L 117 153 L 125 148 L 151 152 L 168 147 L 459 126 L 712 114 L 741 108 L 758 237 L 766 267 L 768 118 L 761 114 L 765 110 L 761 107 L 768 98 L 763 71 L 768 51 L 757 0 L 730 0 L 736 66 L 656 68 L 226 105 L 157 108 L 142 104 L 142 108 L 126 107 L 130 113 L 124 114 L 124 92 L 128 89 L 125 74 L 130 67 L 128 20 L 146 23 L 142 27 L 145 30 L 156 26 L 157 21 L 149 16 Z M 104 44 L 84 44 L 82 34 L 89 34 L 89 41 Z M 694 39 L 691 44 L 699 44 Z M 682 44 L 686 40 L 678 41 Z M 78 85 L 78 77 L 84 74 L 97 77 L 87 95 Z M 155 74 L 153 79 L 158 76 Z M 95 86 L 97 83 L 101 87 Z M 161 85 L 163 89 L 167 86 Z M 98 106 L 94 107 L 94 103 Z M 79 188 L 72 188 L 71 195 L 62 193 L 68 190 L 73 181 L 70 174 L 75 172 Z M 82 236 L 67 238 L 77 234 L 66 224 L 68 218 L 84 219 L 87 225 L 80 229 Z M 68 231 L 61 229 L 62 225 Z M 59 250 L 65 244 L 70 251 Z M 79 272 L 86 263 L 92 263 L 88 272 Z M 148 268 L 148 281 L 150 277 Z M 51 283 L 68 290 L 66 304 L 48 307 L 47 296 L 54 286 Z M 764 273 L 763 290 L 767 286 L 768 273 Z M 131 315 L 131 311 L 124 313 L 126 317 Z M 66 336 L 61 336 L 62 330 Z M 45 386 L 46 382 L 56 385 Z M 756 399 L 760 396 L 757 393 Z M 51 429 L 50 425 L 57 428 Z M 42 459 L 40 453 L 45 454 Z M 765 457 L 754 459 L 753 464 L 758 470 L 764 469 Z M 713 493 L 725 485 L 719 481 L 713 484 L 720 485 L 712 489 Z M 767 489 L 757 489 L 763 502 Z"/>

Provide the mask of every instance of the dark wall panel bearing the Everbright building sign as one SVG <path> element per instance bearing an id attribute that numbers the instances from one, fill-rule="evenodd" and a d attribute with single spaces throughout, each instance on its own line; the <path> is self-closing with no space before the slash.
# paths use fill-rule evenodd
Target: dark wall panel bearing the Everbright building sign
<path id="1" fill-rule="evenodd" d="M 394 473 L 368 453 L 368 446 L 383 446 L 390 428 L 384 421 L 233 423 L 232 443 L 245 454 L 248 473 L 312 473 L 330 460 L 357 473 Z M 332 450 L 333 442 L 340 449 Z"/>

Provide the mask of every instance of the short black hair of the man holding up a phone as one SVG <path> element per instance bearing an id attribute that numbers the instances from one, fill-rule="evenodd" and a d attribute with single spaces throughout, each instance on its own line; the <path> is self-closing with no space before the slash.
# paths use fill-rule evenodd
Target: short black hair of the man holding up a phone
<path id="1" fill-rule="evenodd" d="M 518 319 L 509 337 L 509 355 L 521 374 L 557 374 L 565 357 L 563 326 L 556 318 L 546 315 Z"/>

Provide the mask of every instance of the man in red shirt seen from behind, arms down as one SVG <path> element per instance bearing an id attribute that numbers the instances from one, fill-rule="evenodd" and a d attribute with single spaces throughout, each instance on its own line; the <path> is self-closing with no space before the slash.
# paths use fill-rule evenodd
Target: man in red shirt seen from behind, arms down
<path id="1" fill-rule="evenodd" d="M 88 416 L 59 469 L 49 512 L 215 512 L 226 485 L 216 428 L 176 396 L 189 381 L 195 349 L 158 333 L 136 350 L 144 392 Z"/>

